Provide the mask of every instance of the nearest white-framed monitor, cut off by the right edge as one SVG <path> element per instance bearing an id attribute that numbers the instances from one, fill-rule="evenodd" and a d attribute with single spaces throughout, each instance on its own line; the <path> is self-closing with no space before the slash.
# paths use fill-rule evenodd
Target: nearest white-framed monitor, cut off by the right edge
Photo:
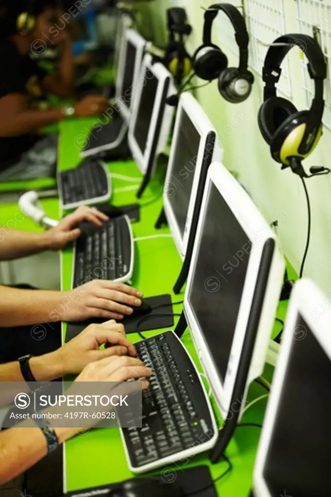
<path id="1" fill-rule="evenodd" d="M 291 295 L 254 475 L 256 497 L 331 494 L 331 307 L 308 279 Z"/>

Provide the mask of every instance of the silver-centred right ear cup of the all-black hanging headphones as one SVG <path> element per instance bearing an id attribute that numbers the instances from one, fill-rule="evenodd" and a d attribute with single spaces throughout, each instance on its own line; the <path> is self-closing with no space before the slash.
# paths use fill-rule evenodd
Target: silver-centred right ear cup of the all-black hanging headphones
<path id="1" fill-rule="evenodd" d="M 240 73 L 238 68 L 230 67 L 221 73 L 218 89 L 228 102 L 240 103 L 251 94 L 252 83 L 248 76 Z"/>

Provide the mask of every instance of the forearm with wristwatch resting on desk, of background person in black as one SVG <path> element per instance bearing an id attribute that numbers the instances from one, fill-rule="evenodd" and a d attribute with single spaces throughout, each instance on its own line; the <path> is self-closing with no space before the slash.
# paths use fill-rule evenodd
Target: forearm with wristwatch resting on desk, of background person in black
<path id="1" fill-rule="evenodd" d="M 5 124 L 0 127 L 0 136 L 6 137 L 37 132 L 40 128 L 63 119 L 65 119 L 65 115 L 60 107 L 47 110 L 22 110 L 5 120 Z"/>

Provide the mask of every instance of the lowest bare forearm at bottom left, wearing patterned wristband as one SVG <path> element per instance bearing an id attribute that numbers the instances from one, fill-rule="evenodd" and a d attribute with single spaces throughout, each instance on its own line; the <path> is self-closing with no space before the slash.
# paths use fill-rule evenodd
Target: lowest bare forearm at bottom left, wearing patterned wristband
<path id="1" fill-rule="evenodd" d="M 31 424 L 31 422 L 30 422 Z M 73 428 L 56 428 L 59 443 L 75 435 Z M 9 428 L 0 432 L 0 484 L 24 473 L 47 455 L 47 442 L 39 428 Z"/>

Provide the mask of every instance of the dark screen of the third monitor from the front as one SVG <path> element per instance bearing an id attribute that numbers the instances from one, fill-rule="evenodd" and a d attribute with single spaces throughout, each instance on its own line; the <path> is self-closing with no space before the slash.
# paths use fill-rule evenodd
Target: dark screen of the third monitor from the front
<path id="1" fill-rule="evenodd" d="M 199 143 L 200 135 L 187 113 L 183 110 L 177 135 L 172 178 L 170 179 L 176 186 L 176 193 L 169 196 L 169 202 L 182 238 L 189 210 Z"/>

